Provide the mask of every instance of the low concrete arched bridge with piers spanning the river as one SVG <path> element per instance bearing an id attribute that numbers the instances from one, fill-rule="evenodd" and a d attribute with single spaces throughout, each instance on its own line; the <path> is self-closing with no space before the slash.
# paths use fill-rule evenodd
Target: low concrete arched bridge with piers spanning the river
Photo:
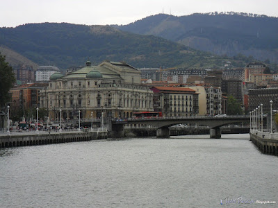
<path id="1" fill-rule="evenodd" d="M 111 121 L 111 136 L 124 137 L 125 124 L 145 124 L 155 127 L 157 137 L 169 138 L 169 127 L 180 123 L 193 123 L 197 125 L 206 125 L 210 128 L 211 138 L 221 138 L 220 127 L 231 123 L 248 122 L 250 116 L 190 116 L 190 117 L 163 117 L 154 119 L 127 119 L 127 120 L 112 120 Z"/>

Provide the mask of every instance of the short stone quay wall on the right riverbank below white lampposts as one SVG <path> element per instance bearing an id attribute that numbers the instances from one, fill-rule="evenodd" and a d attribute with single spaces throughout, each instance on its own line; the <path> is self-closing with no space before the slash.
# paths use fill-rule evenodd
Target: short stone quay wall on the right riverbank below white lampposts
<path id="1" fill-rule="evenodd" d="M 252 130 L 250 139 L 262 153 L 278 156 L 278 132 L 261 132 Z"/>

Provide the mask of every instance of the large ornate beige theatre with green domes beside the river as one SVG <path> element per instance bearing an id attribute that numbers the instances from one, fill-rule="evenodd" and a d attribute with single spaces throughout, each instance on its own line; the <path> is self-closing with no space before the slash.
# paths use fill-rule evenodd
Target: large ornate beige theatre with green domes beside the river
<path id="1" fill-rule="evenodd" d="M 104 116 L 126 118 L 133 112 L 152 111 L 153 92 L 141 85 L 140 71 L 124 62 L 102 62 L 63 76 L 51 75 L 49 85 L 40 93 L 40 106 L 50 119 L 90 119 Z"/>

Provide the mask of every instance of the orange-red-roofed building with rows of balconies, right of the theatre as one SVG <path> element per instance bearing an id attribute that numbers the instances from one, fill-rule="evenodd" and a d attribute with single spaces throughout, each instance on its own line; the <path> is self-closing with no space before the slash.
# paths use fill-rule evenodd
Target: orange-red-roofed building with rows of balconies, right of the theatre
<path id="1" fill-rule="evenodd" d="M 165 116 L 195 116 L 199 112 L 198 95 L 185 87 L 152 87 L 154 111 Z"/>

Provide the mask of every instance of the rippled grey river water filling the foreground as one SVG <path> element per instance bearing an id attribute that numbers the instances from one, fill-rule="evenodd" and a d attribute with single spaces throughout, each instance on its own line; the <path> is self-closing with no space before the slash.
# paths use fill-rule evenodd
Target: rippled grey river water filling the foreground
<path id="1" fill-rule="evenodd" d="M 278 157 L 208 137 L 0 149 L 0 207 L 277 207 L 252 202 L 278 203 Z"/>

